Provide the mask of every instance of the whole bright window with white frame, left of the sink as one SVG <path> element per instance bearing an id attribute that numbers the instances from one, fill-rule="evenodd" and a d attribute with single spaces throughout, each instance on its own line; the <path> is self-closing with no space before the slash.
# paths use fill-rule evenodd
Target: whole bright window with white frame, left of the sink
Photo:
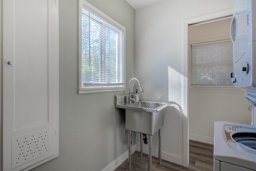
<path id="1" fill-rule="evenodd" d="M 125 90 L 125 27 L 80 0 L 79 93 Z"/>

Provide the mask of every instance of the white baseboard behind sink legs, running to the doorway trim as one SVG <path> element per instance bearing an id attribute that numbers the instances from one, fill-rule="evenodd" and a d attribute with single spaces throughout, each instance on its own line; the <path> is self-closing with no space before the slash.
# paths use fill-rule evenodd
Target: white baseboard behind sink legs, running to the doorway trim
<path id="1" fill-rule="evenodd" d="M 140 151 L 140 144 L 136 144 L 136 151 Z M 143 153 L 148 154 L 148 145 L 143 145 Z M 158 149 L 152 149 L 152 156 L 158 157 Z M 176 163 L 178 165 L 183 165 L 183 158 L 171 153 L 162 151 L 162 159 Z"/>

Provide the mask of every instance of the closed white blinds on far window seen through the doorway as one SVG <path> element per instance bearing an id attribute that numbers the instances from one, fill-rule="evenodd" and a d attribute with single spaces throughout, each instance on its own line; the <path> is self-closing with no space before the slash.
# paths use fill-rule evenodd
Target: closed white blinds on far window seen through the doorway
<path id="1" fill-rule="evenodd" d="M 231 40 L 191 46 L 191 85 L 232 85 L 233 45 Z"/>

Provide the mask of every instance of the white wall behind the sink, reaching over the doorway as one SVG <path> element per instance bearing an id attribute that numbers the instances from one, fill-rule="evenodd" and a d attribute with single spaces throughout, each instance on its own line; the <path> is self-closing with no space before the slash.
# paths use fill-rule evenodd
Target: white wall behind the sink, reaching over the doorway
<path id="1" fill-rule="evenodd" d="M 164 159 L 182 164 L 183 113 L 179 107 L 183 105 L 183 109 L 187 109 L 180 94 L 181 78 L 187 77 L 183 73 L 184 20 L 229 8 L 232 8 L 232 0 L 166 0 L 136 10 L 136 77 L 144 89 L 141 97 L 178 104 L 166 110 L 162 128 Z M 153 137 L 155 152 L 158 148 L 157 136 Z M 139 143 L 138 135 L 136 137 Z"/>

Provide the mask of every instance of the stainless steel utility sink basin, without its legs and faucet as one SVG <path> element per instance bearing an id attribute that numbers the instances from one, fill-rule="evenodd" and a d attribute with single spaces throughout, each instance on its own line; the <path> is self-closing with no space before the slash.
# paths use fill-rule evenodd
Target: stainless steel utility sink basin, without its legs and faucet
<path id="1" fill-rule="evenodd" d="M 130 101 L 129 94 L 115 95 L 115 107 L 125 109 L 126 129 L 154 135 L 164 125 L 164 111 L 168 103 Z"/>

